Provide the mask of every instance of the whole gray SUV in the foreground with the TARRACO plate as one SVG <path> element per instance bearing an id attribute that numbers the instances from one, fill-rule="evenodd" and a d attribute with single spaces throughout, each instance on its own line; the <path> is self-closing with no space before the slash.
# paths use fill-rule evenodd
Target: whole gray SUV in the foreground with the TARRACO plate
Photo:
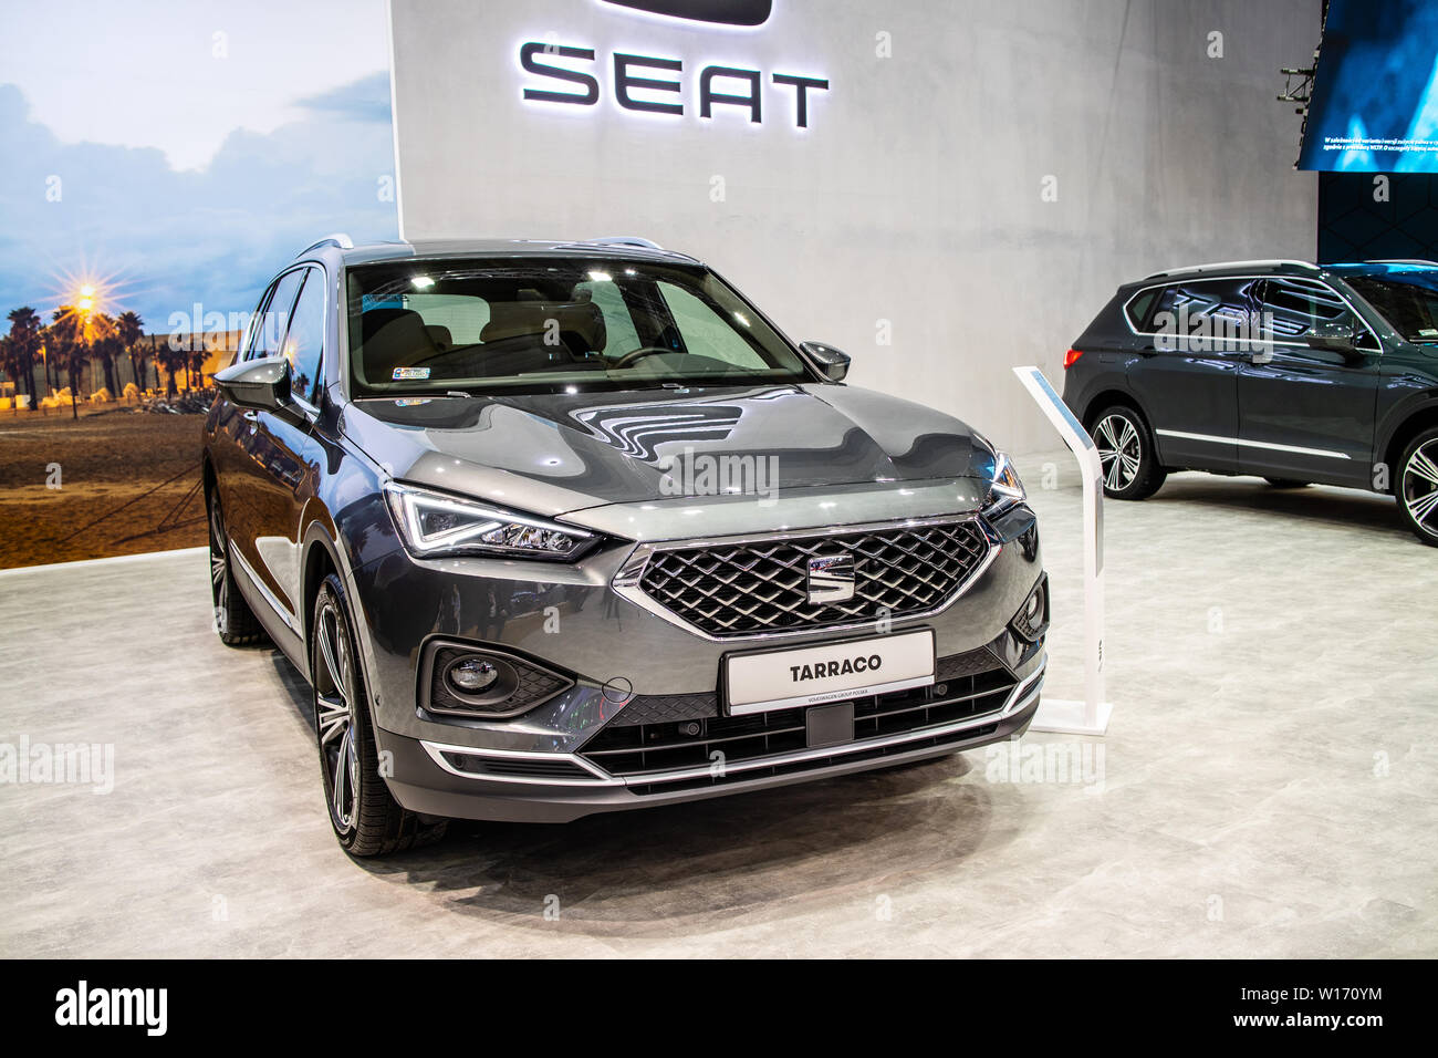
<path id="1" fill-rule="evenodd" d="M 341 845 L 1022 731 L 1048 628 L 1022 485 L 847 367 L 640 239 L 288 265 L 206 423 L 213 603 L 312 685 Z"/>

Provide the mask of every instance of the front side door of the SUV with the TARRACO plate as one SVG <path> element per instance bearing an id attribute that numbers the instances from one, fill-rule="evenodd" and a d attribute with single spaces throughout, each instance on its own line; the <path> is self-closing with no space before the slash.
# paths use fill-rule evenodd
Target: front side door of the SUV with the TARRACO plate
<path id="1" fill-rule="evenodd" d="M 252 435 L 252 458 L 260 469 L 255 488 L 256 567 L 282 618 L 296 633 L 303 628 L 299 613 L 301 517 L 318 485 L 321 445 L 313 436 L 322 390 L 326 278 L 322 268 L 302 269 L 302 284 L 289 312 L 280 353 L 289 361 L 290 403 L 275 412 L 259 412 Z"/>

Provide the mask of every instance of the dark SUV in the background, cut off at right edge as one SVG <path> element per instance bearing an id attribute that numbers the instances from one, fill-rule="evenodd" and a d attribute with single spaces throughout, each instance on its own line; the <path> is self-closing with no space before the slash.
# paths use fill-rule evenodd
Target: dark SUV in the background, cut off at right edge
<path id="1" fill-rule="evenodd" d="M 1238 261 L 1125 284 L 1064 357 L 1104 492 L 1172 469 L 1392 494 L 1438 546 L 1438 263 Z"/>

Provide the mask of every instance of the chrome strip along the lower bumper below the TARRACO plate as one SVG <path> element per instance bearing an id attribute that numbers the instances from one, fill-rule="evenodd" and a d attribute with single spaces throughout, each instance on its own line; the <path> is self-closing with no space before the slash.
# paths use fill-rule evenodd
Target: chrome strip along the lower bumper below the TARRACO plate
<path id="1" fill-rule="evenodd" d="M 764 767 L 797 764 L 805 760 L 815 760 L 821 757 L 843 757 L 850 753 L 863 753 L 866 750 L 883 749 L 889 746 L 903 746 L 910 741 L 922 741 L 925 738 L 932 738 L 935 736 L 956 734 L 959 731 L 966 731 L 972 727 L 984 727 L 986 724 L 994 724 L 999 720 L 1007 720 L 1015 713 L 1022 713 L 1028 705 L 1038 697 L 1043 688 L 1044 672 L 1048 668 L 1048 655 L 1040 656 L 1038 668 L 1024 677 L 1014 689 L 1009 691 L 1008 698 L 998 710 L 989 710 L 988 713 L 981 713 L 976 717 L 965 717 L 963 720 L 955 720 L 948 724 L 936 724 L 933 727 L 920 727 L 913 731 L 905 731 L 903 734 L 893 734 L 884 738 L 858 738 L 851 743 L 843 743 L 840 746 L 821 746 L 808 750 L 794 750 L 792 753 L 777 753 L 768 757 L 754 757 L 752 760 L 741 760 L 735 764 L 725 767 L 725 774 L 733 774 L 736 772 L 754 772 Z M 598 764 L 592 764 L 585 760 L 578 753 L 536 753 L 536 751 L 522 751 L 522 750 L 486 750 L 475 749 L 472 746 L 446 746 L 443 743 L 431 743 L 420 740 L 426 753 L 446 772 L 459 776 L 462 779 L 480 779 L 485 782 L 495 783 L 518 783 L 521 786 L 584 786 L 584 787 L 614 787 L 614 786 L 649 786 L 650 783 L 677 783 L 687 779 L 703 779 L 712 774 L 712 764 L 697 764 L 695 767 L 679 769 L 674 772 L 654 772 L 641 776 L 627 776 L 618 779 L 611 776 L 608 772 L 601 769 Z M 510 760 L 562 760 L 571 764 L 578 764 L 587 772 L 592 773 L 595 777 L 590 779 L 535 779 L 529 776 L 493 776 L 493 774 L 479 774 L 476 772 L 460 772 L 447 760 L 444 760 L 444 753 L 464 753 L 476 757 L 496 757 L 496 759 L 510 759 Z"/>

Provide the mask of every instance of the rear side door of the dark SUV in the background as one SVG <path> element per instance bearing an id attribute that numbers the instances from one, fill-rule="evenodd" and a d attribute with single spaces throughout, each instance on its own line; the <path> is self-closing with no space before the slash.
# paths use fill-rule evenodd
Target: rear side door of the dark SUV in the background
<path id="1" fill-rule="evenodd" d="M 1248 357 L 1252 279 L 1165 284 L 1145 325 L 1129 389 L 1149 416 L 1166 466 L 1235 471 L 1238 371 Z"/>

